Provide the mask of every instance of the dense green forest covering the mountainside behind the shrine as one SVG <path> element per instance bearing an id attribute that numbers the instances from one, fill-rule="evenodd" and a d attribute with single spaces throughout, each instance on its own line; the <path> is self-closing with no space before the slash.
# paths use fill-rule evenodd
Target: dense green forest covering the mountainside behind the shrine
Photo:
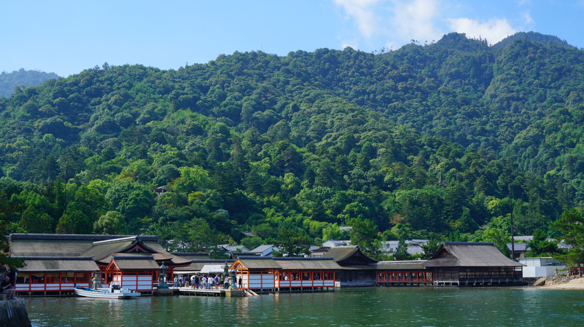
<path id="1" fill-rule="evenodd" d="M 106 63 L 17 88 L 0 98 L 4 230 L 289 255 L 350 237 L 376 255 L 380 240 L 505 240 L 513 210 L 516 234 L 554 237 L 584 201 L 584 51 L 504 41 Z"/>

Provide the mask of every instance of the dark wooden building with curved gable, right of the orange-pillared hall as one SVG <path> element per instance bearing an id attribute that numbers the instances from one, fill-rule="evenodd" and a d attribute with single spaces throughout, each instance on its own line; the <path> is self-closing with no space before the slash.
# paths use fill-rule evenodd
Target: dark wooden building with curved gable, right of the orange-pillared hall
<path id="1" fill-rule="evenodd" d="M 376 283 L 376 267 L 370 263 L 377 260 L 369 258 L 361 252 L 358 245 L 333 247 L 323 255 L 323 258 L 333 258 L 343 270 L 336 276 L 336 287 L 374 286 Z"/>

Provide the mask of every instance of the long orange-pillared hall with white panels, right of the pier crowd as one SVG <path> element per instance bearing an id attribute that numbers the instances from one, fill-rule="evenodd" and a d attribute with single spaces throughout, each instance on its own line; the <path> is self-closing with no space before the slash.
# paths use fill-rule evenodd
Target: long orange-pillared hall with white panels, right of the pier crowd
<path id="1" fill-rule="evenodd" d="M 240 256 L 231 265 L 244 289 L 265 291 L 333 290 L 343 268 L 332 258 Z"/>

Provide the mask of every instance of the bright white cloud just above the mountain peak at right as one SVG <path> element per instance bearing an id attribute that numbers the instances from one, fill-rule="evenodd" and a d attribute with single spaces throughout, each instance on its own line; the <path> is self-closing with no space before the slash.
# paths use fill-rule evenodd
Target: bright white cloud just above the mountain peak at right
<path id="1" fill-rule="evenodd" d="M 495 44 L 503 38 L 515 34 L 514 29 L 507 19 L 489 19 L 486 23 L 479 23 L 478 20 L 468 18 L 447 19 L 452 31 L 466 33 L 467 37 L 486 38 L 490 43 Z"/>

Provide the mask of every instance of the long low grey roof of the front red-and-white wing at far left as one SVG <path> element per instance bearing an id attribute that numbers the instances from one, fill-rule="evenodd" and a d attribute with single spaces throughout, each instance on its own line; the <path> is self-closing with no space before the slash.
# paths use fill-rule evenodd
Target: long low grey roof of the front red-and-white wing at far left
<path id="1" fill-rule="evenodd" d="M 20 272 L 94 272 L 98 265 L 91 256 L 24 256 L 12 258 L 25 259 L 26 266 Z"/>

